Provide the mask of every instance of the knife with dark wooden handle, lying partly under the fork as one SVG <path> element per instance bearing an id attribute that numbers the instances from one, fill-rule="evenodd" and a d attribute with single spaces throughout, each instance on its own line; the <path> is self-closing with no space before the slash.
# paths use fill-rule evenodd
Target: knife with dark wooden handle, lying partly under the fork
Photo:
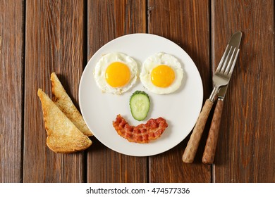
<path id="1" fill-rule="evenodd" d="M 242 34 L 240 34 L 239 39 L 235 40 L 235 46 L 239 48 L 240 46 L 240 39 Z M 228 83 L 229 84 L 229 83 Z M 212 164 L 214 162 L 214 156 L 216 152 L 216 144 L 219 137 L 219 126 L 221 123 L 221 115 L 224 106 L 224 97 L 226 96 L 226 91 L 228 88 L 228 84 L 224 87 L 219 89 L 217 94 L 218 101 L 216 102 L 216 107 L 214 110 L 214 115 L 212 118 L 212 122 L 210 125 L 209 133 L 207 136 L 207 142 L 204 148 L 204 153 L 202 155 L 202 163 L 204 164 Z"/>

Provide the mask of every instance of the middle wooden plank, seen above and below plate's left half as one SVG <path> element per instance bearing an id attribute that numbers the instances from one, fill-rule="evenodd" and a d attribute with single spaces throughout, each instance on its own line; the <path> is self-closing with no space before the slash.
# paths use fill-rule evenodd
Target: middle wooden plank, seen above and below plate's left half
<path id="1" fill-rule="evenodd" d="M 146 32 L 146 1 L 88 1 L 87 56 L 123 34 Z M 147 158 L 121 155 L 93 138 L 87 182 L 147 182 Z"/>

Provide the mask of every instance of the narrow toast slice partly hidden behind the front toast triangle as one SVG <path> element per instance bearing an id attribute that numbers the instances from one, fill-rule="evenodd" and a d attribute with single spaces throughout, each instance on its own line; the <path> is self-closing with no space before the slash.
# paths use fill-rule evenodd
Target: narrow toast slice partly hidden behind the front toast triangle
<path id="1" fill-rule="evenodd" d="M 66 90 L 63 88 L 55 72 L 51 73 L 51 93 L 56 106 L 58 106 L 68 119 L 80 129 L 80 132 L 86 136 L 92 136 L 92 132 L 87 127 L 79 110 L 75 107 L 73 101 L 66 93 Z"/>

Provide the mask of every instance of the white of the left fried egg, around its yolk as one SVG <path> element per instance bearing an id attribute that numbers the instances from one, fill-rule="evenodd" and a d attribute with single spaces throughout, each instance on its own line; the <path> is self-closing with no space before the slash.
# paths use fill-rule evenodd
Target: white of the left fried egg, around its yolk
<path id="1" fill-rule="evenodd" d="M 114 62 L 121 62 L 128 66 L 130 70 L 130 80 L 128 84 L 126 84 L 123 87 L 111 87 L 105 79 L 105 72 L 106 68 L 111 63 Z M 123 92 L 128 91 L 131 87 L 133 87 L 133 84 L 135 84 L 136 80 L 138 78 L 138 63 L 131 58 L 130 56 L 127 56 L 123 53 L 113 52 L 113 53 L 106 53 L 104 54 L 94 68 L 94 79 L 97 82 L 97 86 L 99 89 L 102 90 L 102 92 L 111 93 L 111 94 L 122 94 Z"/>

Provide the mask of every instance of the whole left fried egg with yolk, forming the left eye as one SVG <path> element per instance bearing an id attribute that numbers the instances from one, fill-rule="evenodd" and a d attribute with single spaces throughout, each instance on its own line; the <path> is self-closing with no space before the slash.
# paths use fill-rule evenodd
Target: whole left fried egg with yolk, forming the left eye
<path id="1" fill-rule="evenodd" d="M 106 53 L 94 68 L 94 79 L 102 92 L 121 94 L 133 87 L 138 77 L 138 64 L 123 53 Z"/>

